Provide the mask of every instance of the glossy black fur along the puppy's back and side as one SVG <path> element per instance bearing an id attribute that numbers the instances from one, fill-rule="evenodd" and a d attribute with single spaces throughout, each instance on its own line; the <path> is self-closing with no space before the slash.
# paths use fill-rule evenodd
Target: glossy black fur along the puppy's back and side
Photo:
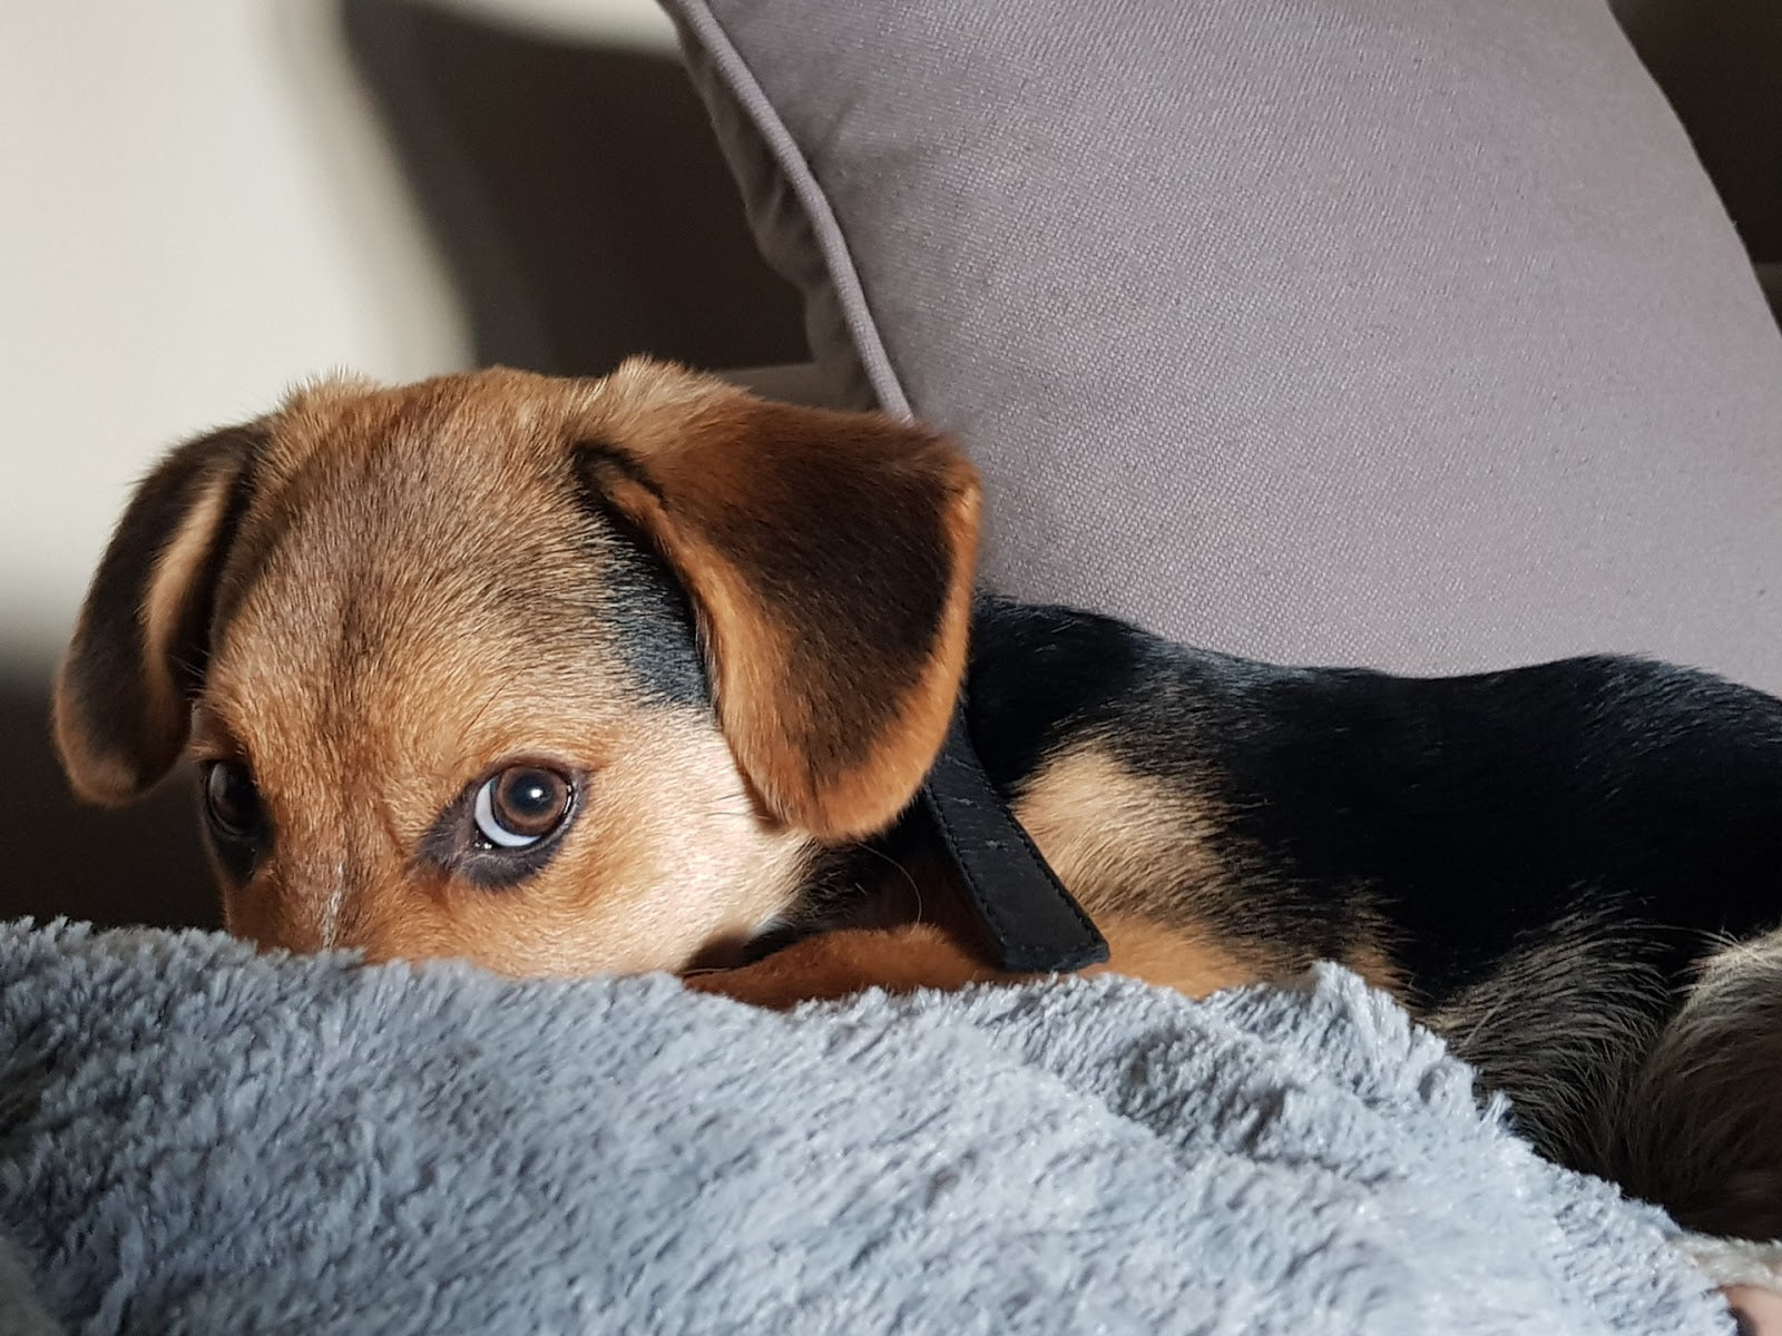
<path id="1" fill-rule="evenodd" d="M 1278 668 L 982 599 L 968 702 L 1007 791 L 1094 739 L 1210 794 L 1219 853 L 1255 869 L 1230 930 L 1340 957 L 1379 916 L 1420 1010 L 1579 923 L 1636 928 L 1670 983 L 1782 923 L 1782 702 L 1709 673 Z"/>

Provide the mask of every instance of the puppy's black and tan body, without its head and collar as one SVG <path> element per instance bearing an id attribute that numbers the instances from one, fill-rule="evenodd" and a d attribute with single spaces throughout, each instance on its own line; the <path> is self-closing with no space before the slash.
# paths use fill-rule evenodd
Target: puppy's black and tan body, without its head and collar
<path id="1" fill-rule="evenodd" d="M 1730 1176 L 1691 1181 L 1718 1067 L 1739 1124 L 1720 1138 L 1752 1170 L 1739 1210 L 1782 1227 L 1762 1170 L 1782 1153 L 1764 1131 L 1782 1119 L 1782 702 L 1616 657 L 1276 668 L 980 599 L 966 704 L 1110 969 L 1199 996 L 1344 962 L 1511 1096 L 1545 1153 L 1737 1229 Z M 955 903 L 920 809 L 846 884 L 896 903 L 911 868 L 920 900 Z M 896 916 L 877 903 L 827 896 L 805 926 Z M 944 933 L 895 951 L 882 932 L 816 935 L 713 985 L 789 1003 L 996 978 L 939 916 Z M 1696 990 L 1679 1022 L 1704 973 L 1720 996 Z"/>

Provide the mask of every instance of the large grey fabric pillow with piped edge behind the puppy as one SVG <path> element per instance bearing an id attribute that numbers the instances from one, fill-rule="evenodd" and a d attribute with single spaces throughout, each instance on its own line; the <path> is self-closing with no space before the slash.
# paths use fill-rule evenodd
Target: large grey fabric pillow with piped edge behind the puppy
<path id="1" fill-rule="evenodd" d="M 1782 337 L 1600 0 L 665 0 L 987 579 L 1269 659 L 1782 689 Z"/>

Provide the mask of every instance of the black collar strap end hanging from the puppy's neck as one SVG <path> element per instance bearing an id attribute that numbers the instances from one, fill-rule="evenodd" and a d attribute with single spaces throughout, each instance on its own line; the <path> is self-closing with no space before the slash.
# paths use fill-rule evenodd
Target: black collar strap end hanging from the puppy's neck
<path id="1" fill-rule="evenodd" d="M 964 704 L 953 711 L 941 755 L 923 780 L 921 805 L 959 869 L 1000 969 L 1067 974 L 1108 958 L 1107 939 L 984 773 Z"/>

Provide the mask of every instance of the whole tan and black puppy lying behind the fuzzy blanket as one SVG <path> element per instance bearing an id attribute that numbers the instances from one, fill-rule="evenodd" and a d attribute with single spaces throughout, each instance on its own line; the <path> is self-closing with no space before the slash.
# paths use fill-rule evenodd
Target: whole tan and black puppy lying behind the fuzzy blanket
<path id="1" fill-rule="evenodd" d="M 1782 1236 L 1782 702 L 1584 657 L 1278 668 L 975 591 L 946 436 L 649 360 L 326 379 L 135 490 L 53 698 L 196 762 L 230 932 L 784 1006 L 1007 978 L 912 798 L 978 755 L 1110 946 L 1336 960 L 1547 1156 Z"/>

